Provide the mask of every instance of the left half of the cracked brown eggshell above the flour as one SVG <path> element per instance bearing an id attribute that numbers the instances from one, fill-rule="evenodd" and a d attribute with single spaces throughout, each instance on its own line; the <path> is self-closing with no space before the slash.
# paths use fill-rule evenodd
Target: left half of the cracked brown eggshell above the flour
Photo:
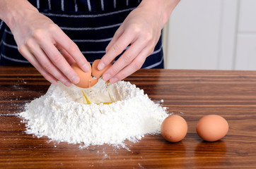
<path id="1" fill-rule="evenodd" d="M 80 82 L 75 84 L 77 87 L 81 87 L 81 88 L 93 87 L 98 82 L 98 79 L 93 79 L 93 77 L 91 77 L 91 64 L 89 65 L 90 65 L 90 71 L 88 71 L 87 73 L 81 70 L 81 68 L 79 68 L 77 63 L 74 63 L 71 65 L 71 67 L 75 70 L 75 72 L 78 74 L 78 77 L 80 78 Z"/>

